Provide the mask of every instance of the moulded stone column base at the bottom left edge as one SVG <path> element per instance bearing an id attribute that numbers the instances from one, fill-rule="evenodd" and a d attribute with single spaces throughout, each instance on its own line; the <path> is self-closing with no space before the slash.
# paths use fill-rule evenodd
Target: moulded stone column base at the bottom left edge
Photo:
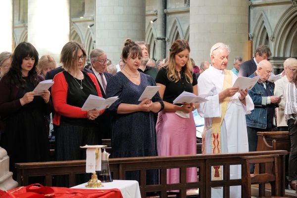
<path id="1" fill-rule="evenodd" d="M 9 156 L 4 148 L 0 147 L 0 190 L 14 189 L 18 183 L 12 179 L 12 172 L 9 172 Z"/>

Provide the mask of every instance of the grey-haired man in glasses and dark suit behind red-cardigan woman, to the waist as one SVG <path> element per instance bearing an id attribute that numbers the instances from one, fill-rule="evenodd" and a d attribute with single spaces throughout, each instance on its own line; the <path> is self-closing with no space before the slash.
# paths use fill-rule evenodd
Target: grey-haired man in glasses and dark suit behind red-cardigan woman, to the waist
<path id="1" fill-rule="evenodd" d="M 89 58 L 91 62 L 91 70 L 99 82 L 102 97 L 105 98 L 106 85 L 110 77 L 112 76 L 111 74 L 106 72 L 106 63 L 109 60 L 107 59 L 106 53 L 102 49 L 93 49 L 90 52 Z M 110 111 L 108 109 L 105 109 L 105 112 L 100 115 L 97 120 L 100 125 L 100 133 L 102 139 L 111 139 Z"/>

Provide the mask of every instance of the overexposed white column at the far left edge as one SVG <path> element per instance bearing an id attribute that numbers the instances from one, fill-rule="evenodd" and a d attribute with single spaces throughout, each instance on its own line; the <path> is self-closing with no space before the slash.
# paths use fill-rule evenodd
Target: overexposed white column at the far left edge
<path id="1" fill-rule="evenodd" d="M 0 52 L 12 51 L 13 37 L 12 37 L 12 0 L 1 1 L 0 6 Z"/>

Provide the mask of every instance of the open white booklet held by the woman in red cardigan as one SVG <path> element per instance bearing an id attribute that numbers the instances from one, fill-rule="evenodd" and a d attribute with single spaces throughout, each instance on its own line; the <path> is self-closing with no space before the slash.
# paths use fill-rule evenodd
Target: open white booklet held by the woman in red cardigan
<path id="1" fill-rule="evenodd" d="M 117 99 L 119 99 L 117 96 L 110 97 L 108 99 L 103 99 L 99 96 L 94 96 L 90 94 L 90 96 L 82 106 L 82 110 L 88 111 L 92 109 L 97 109 L 97 110 L 105 109 L 105 108 L 108 108 Z"/>

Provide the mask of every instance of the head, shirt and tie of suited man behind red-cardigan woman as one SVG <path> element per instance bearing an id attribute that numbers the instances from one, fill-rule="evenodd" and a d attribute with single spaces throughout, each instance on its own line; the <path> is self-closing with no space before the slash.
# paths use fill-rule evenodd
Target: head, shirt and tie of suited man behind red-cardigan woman
<path id="1" fill-rule="evenodd" d="M 112 76 L 106 72 L 107 65 L 109 61 L 107 59 L 106 53 L 102 49 L 93 49 L 89 55 L 91 61 L 91 70 L 94 72 L 94 75 L 97 77 L 101 89 L 103 98 L 105 98 L 106 85 L 109 78 Z"/>

